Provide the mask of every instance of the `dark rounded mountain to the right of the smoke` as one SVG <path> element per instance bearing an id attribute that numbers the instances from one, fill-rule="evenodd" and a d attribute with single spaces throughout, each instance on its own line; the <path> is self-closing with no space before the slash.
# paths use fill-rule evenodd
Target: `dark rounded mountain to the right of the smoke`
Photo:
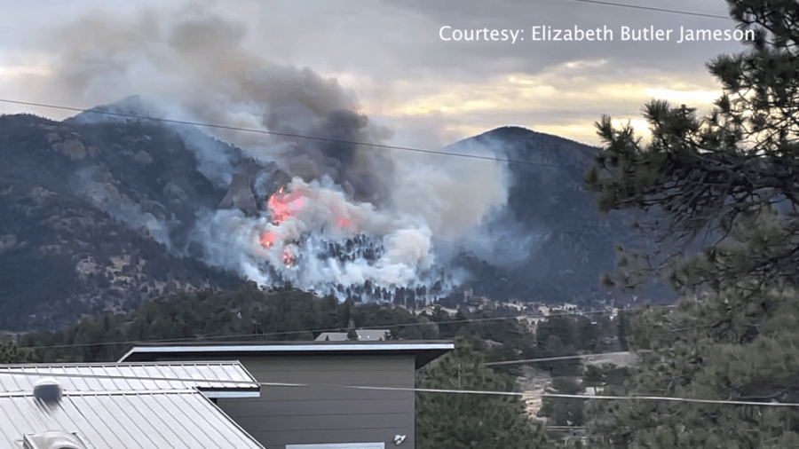
<path id="1" fill-rule="evenodd" d="M 613 270 L 617 241 L 636 236 L 635 214 L 598 213 L 582 176 L 598 148 L 519 127 L 487 131 L 455 144 L 478 143 L 501 148 L 508 161 L 508 209 L 496 225 L 511 222 L 536 243 L 529 254 L 509 266 L 496 266 L 464 253 L 459 263 L 474 275 L 467 283 L 474 294 L 495 299 L 590 304 L 611 292 L 599 286 L 603 272 Z M 510 245 L 517 245 L 518 233 Z M 619 294 L 614 294 L 618 297 Z"/>

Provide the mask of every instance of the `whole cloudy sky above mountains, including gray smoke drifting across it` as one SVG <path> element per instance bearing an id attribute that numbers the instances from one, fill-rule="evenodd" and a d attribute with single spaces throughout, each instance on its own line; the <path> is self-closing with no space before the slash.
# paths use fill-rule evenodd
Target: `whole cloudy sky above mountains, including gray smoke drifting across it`
<path id="1" fill-rule="evenodd" d="M 601 145 L 594 122 L 608 114 L 645 131 L 652 98 L 707 111 L 720 88 L 705 64 L 746 47 L 679 42 L 681 28 L 734 30 L 727 4 L 615 3 L 722 17 L 577 0 L 11 1 L 0 19 L 0 99 L 91 107 L 139 94 L 177 101 L 181 118 L 268 128 L 253 117 L 278 94 L 252 88 L 268 67 L 262 81 L 278 91 L 275 74 L 308 95 L 335 92 L 333 103 L 366 115 L 384 142 L 420 147 L 504 125 Z M 603 28 L 613 40 L 536 41 L 534 27 Z M 622 27 L 672 32 L 632 42 Z M 489 39 L 456 40 L 475 30 Z M 0 114 L 20 112 L 74 114 L 0 103 Z"/>

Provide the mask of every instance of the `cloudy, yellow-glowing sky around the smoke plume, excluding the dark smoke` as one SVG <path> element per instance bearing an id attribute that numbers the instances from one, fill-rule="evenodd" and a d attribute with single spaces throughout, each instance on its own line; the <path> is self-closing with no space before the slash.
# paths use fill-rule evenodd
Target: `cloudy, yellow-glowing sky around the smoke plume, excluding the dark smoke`
<path id="1" fill-rule="evenodd" d="M 619 3 L 727 16 L 722 0 Z M 719 86 L 705 64 L 719 54 L 745 50 L 736 41 L 677 42 L 681 28 L 734 30 L 729 19 L 574 0 L 17 1 L 4 2 L 0 98 L 91 107 L 148 93 L 120 85 L 108 91 L 54 89 L 48 80 L 68 78 L 64 59 L 74 51 L 65 50 L 63 35 L 86 18 L 146 27 L 147 18 L 185 11 L 208 12 L 238 24 L 241 46 L 259 59 L 308 67 L 335 79 L 357 98 L 353 109 L 391 129 L 392 143 L 405 145 L 446 144 L 502 125 L 598 145 L 593 123 L 602 114 L 645 130 L 641 107 L 651 98 L 707 110 Z M 518 37 L 525 40 L 445 41 L 442 27 L 451 27 L 445 38 L 453 37 L 454 30 L 496 29 L 499 36 L 502 30 L 520 30 Z M 533 27 L 606 27 L 613 41 L 534 41 Z M 625 42 L 622 27 L 673 33 L 669 41 Z M 124 45 L 124 35 L 116 38 Z M 104 39 L 84 36 L 78 44 L 86 51 Z M 115 67 L 107 66 L 113 65 L 98 58 L 98 72 L 113 73 Z M 142 70 L 141 76 L 146 75 Z M 56 119 L 68 115 L 0 104 L 0 114 L 17 112 Z"/>

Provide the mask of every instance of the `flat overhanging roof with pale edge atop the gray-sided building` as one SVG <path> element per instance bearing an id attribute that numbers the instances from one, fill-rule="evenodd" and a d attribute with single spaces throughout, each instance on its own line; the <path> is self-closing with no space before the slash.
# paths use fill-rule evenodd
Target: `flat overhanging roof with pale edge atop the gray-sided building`
<path id="1" fill-rule="evenodd" d="M 416 369 L 455 349 L 446 341 L 375 341 L 375 342 L 192 342 L 179 345 L 141 344 L 131 348 L 120 362 L 158 358 L 202 358 L 245 356 L 353 356 L 412 355 Z"/>

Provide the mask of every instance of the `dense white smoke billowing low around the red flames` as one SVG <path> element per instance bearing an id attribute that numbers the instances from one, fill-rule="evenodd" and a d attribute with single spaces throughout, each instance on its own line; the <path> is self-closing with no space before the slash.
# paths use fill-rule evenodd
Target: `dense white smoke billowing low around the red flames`
<path id="1" fill-rule="evenodd" d="M 279 223 L 244 217 L 238 210 L 218 210 L 204 217 L 196 237 L 209 249 L 210 263 L 235 267 L 265 285 L 289 280 L 325 293 L 336 293 L 339 284 L 360 286 L 368 281 L 380 288 L 397 288 L 439 280 L 440 273 L 431 271 L 437 239 L 424 217 L 348 200 L 328 177 L 309 184 L 297 177 L 287 192 L 281 210 L 288 210 L 288 215 Z M 328 242 L 359 236 L 376 241 L 380 255 L 374 260 L 320 258 Z"/>

